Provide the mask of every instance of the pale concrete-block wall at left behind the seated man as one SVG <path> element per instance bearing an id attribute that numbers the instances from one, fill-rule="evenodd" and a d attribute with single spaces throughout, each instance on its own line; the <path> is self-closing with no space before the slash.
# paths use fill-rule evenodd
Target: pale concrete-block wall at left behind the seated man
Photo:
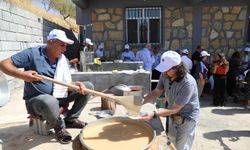
<path id="1" fill-rule="evenodd" d="M 0 61 L 22 49 L 46 42 L 53 28 L 62 29 L 42 17 L 0 1 Z M 10 89 L 20 87 L 21 80 L 7 76 Z"/>

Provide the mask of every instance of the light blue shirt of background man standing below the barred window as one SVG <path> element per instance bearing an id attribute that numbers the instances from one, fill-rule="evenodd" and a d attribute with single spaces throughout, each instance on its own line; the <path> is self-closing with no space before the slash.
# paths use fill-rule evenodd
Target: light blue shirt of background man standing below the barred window
<path id="1" fill-rule="evenodd" d="M 151 71 L 155 59 L 149 49 L 144 48 L 138 52 L 136 56 L 139 61 L 142 61 L 144 70 Z"/>

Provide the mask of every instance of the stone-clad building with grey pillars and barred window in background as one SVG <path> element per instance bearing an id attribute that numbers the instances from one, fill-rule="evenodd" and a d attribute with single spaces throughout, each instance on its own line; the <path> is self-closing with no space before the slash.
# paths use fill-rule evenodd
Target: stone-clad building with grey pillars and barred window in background
<path id="1" fill-rule="evenodd" d="M 147 42 L 164 50 L 204 45 L 226 56 L 250 44 L 249 0 L 72 0 L 83 37 L 105 43 L 115 59 L 129 43 L 136 52 Z"/>

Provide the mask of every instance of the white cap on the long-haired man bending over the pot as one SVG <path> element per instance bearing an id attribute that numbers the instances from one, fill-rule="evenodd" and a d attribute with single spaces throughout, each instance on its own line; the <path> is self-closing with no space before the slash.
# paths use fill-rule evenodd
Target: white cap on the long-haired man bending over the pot
<path id="1" fill-rule="evenodd" d="M 181 56 L 175 51 L 164 52 L 161 56 L 160 64 L 155 68 L 160 72 L 165 72 L 181 63 Z"/>

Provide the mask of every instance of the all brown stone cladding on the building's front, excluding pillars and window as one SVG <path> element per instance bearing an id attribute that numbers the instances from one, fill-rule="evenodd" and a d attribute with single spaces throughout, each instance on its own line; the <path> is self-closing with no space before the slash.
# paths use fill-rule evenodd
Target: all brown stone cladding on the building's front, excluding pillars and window
<path id="1" fill-rule="evenodd" d="M 201 20 L 193 18 L 193 7 L 165 7 L 163 8 L 163 43 L 165 50 L 187 48 L 193 50 L 194 21 L 201 24 L 201 43 L 212 54 L 224 52 L 227 57 L 244 47 L 247 6 L 203 6 Z M 107 57 L 118 57 L 125 42 L 123 8 L 93 9 L 91 19 L 93 23 L 92 37 L 96 46 L 105 43 Z M 199 37 L 199 38 L 200 38 Z M 200 40 L 199 40 L 200 41 Z M 196 45 L 195 45 L 196 46 Z M 136 52 L 141 47 L 131 46 Z M 212 58 L 211 57 L 211 58 Z"/>

